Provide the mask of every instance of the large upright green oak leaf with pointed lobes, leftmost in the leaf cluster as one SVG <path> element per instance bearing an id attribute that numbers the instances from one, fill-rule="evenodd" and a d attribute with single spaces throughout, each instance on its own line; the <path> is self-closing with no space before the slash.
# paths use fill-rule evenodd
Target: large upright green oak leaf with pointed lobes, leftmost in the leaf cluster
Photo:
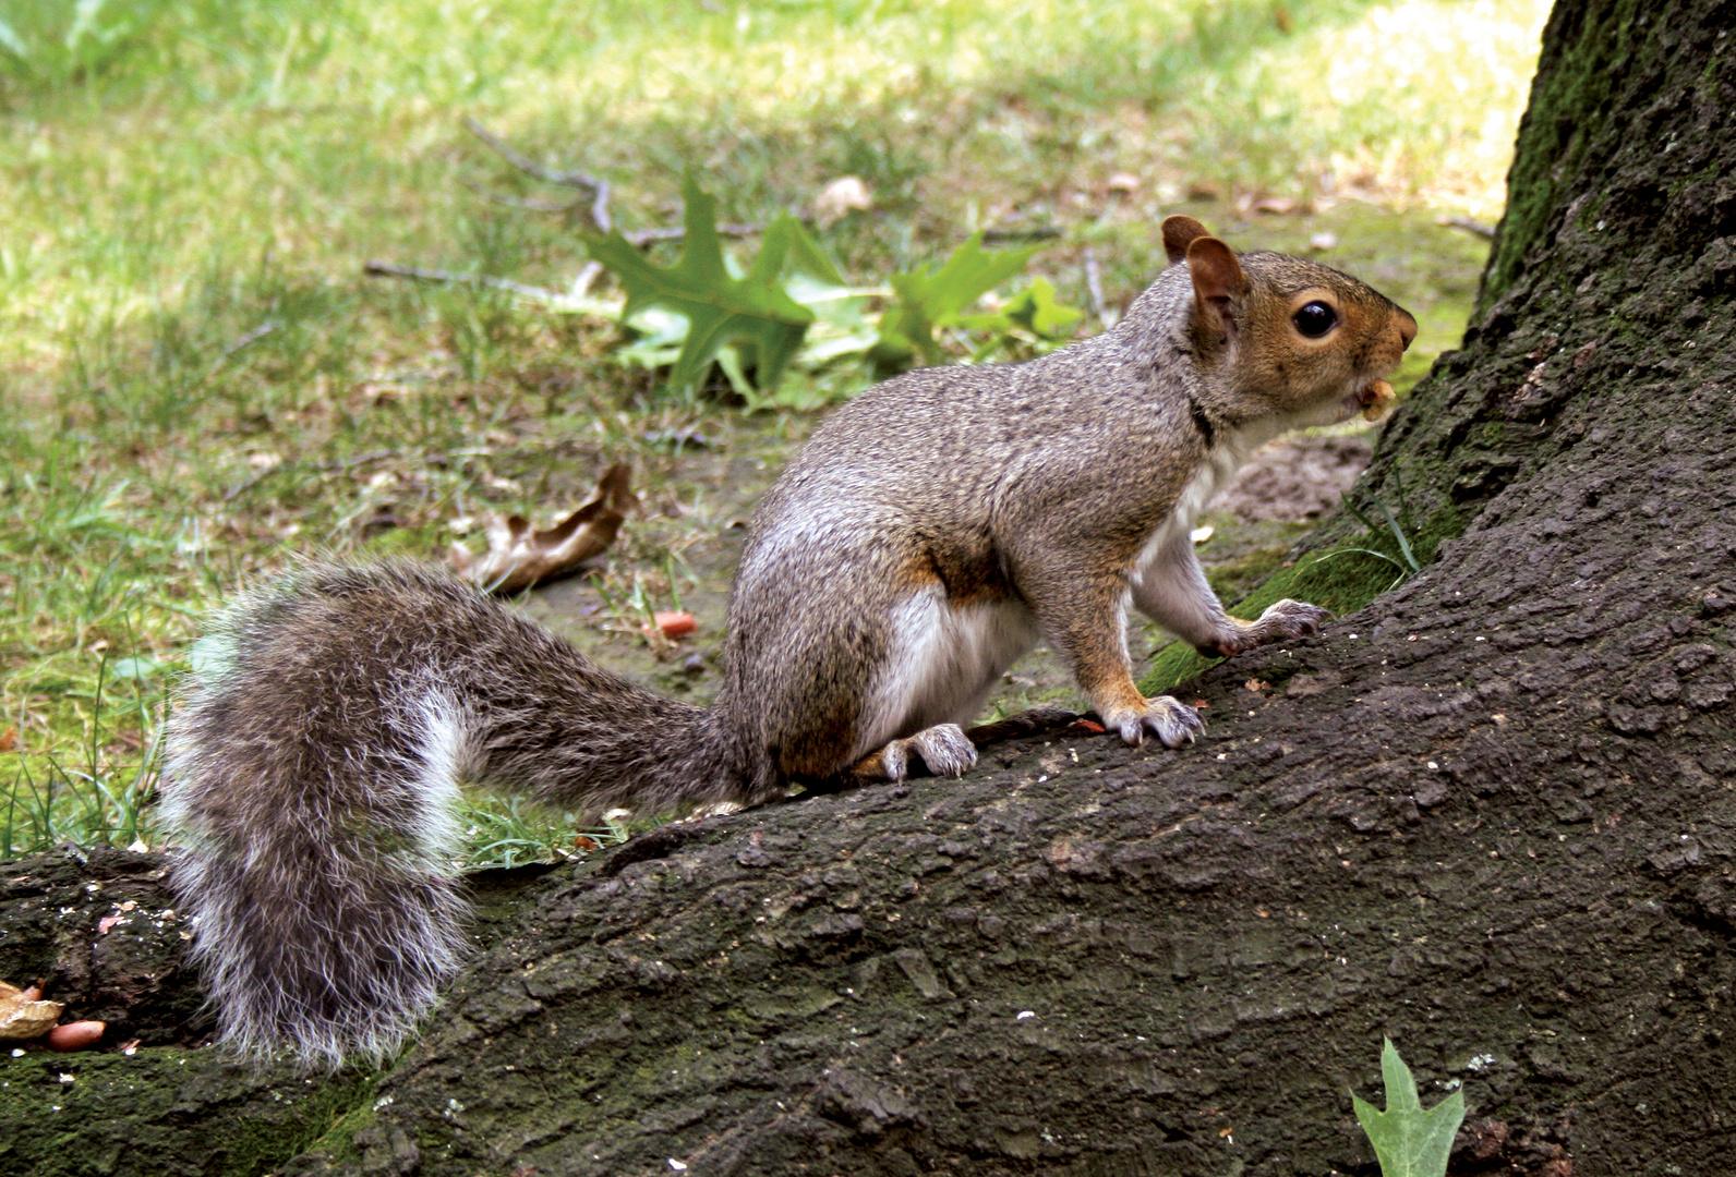
<path id="1" fill-rule="evenodd" d="M 687 321 L 668 375 L 674 389 L 686 392 L 696 387 L 719 352 L 731 345 L 736 349 L 733 366 L 740 372 L 752 365 L 755 382 L 762 389 L 771 387 L 814 321 L 814 312 L 785 292 L 781 274 L 792 264 L 802 269 L 823 266 L 832 278 L 837 271 L 812 247 L 802 226 L 783 215 L 766 231 L 748 273 L 736 278 L 717 236 L 717 200 L 700 191 L 691 175 L 682 184 L 682 200 L 686 236 L 681 260 L 674 266 L 653 266 L 620 233 L 587 233 L 585 248 L 627 290 L 623 319 L 661 307 Z"/>

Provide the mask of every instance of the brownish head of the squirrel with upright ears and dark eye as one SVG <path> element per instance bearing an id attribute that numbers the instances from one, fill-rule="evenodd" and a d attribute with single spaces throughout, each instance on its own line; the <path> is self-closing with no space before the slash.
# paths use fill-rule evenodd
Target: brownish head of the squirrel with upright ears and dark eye
<path id="1" fill-rule="evenodd" d="M 1170 262 L 1187 262 L 1187 335 L 1220 408 L 1252 420 L 1330 425 L 1392 403 L 1387 377 L 1417 319 L 1373 286 L 1286 253 L 1243 253 L 1193 217 L 1163 222 Z"/>

